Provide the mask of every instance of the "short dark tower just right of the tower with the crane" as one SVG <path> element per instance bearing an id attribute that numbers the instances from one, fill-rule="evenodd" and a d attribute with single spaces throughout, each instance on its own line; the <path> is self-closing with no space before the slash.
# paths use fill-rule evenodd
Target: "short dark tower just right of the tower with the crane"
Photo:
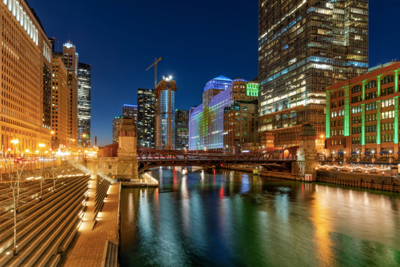
<path id="1" fill-rule="evenodd" d="M 188 149 L 189 145 L 189 111 L 175 110 L 175 150 Z"/>

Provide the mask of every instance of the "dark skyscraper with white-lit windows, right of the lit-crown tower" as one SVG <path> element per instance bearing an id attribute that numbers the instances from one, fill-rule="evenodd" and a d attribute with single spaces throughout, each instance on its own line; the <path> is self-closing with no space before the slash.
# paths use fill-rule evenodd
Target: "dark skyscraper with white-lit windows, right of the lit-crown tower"
<path id="1" fill-rule="evenodd" d="M 78 147 L 90 147 L 91 65 L 78 64 Z"/>

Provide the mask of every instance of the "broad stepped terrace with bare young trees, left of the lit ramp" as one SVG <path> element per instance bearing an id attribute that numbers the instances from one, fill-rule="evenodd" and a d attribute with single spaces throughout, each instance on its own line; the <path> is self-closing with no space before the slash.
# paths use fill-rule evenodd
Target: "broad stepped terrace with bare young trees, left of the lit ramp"
<path id="1" fill-rule="evenodd" d="M 64 175 L 82 173 L 75 168 L 68 171 L 65 166 L 61 169 Z M 90 175 L 70 176 L 65 186 L 64 178 L 59 178 L 54 192 L 53 180 L 49 179 L 43 184 L 41 201 L 37 199 L 37 181 L 26 181 L 18 212 L 23 221 L 17 225 L 17 255 L 12 251 L 13 212 L 9 207 L 0 209 L 0 266 L 56 266 L 80 225 L 89 181 Z M 6 188 L 0 186 L 0 190 Z M 0 205 L 5 201 L 6 197 L 0 198 Z"/>

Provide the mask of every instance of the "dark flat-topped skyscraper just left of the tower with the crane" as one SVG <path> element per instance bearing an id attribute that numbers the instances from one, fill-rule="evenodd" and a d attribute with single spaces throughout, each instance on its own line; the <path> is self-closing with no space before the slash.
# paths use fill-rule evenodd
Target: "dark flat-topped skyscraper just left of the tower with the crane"
<path id="1" fill-rule="evenodd" d="M 154 148 L 155 94 L 153 89 L 137 89 L 137 145 Z"/>

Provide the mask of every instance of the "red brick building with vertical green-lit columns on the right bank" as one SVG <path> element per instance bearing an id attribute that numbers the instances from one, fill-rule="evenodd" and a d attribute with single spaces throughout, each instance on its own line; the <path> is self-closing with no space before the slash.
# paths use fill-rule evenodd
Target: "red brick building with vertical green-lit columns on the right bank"
<path id="1" fill-rule="evenodd" d="M 390 62 L 326 89 L 325 154 L 397 154 L 399 71 Z"/>

